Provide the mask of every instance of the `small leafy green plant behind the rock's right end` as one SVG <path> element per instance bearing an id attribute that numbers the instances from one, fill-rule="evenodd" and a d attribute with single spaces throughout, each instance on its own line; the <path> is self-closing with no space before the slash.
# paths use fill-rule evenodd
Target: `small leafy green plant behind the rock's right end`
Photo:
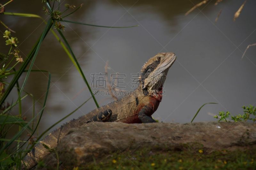
<path id="1" fill-rule="evenodd" d="M 256 122 L 256 107 L 249 105 L 248 106 L 243 106 L 242 107 L 244 109 L 244 114 L 243 115 L 236 115 L 236 116 L 232 116 L 231 115 L 231 120 L 233 120 L 234 122 L 246 122 L 248 120 L 252 120 L 253 123 Z M 220 121 L 224 121 L 224 122 L 229 122 L 227 120 L 227 118 L 229 117 L 230 112 L 227 111 L 226 113 L 221 111 L 219 112 L 219 115 L 215 115 L 214 118 L 219 119 L 218 122 Z"/>

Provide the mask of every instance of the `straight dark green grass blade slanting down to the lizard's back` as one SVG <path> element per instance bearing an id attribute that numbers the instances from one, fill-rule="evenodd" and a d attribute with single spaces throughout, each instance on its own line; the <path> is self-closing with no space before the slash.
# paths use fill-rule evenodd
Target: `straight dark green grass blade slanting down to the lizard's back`
<path id="1" fill-rule="evenodd" d="M 69 51 L 70 51 L 70 53 L 71 53 L 73 59 L 75 60 L 76 65 L 78 66 L 79 72 L 80 72 L 80 74 L 82 75 L 82 77 L 83 77 L 83 79 L 84 79 L 84 82 L 85 82 L 85 84 L 87 85 L 87 87 L 88 87 L 88 89 L 89 89 L 89 91 L 90 91 L 90 93 L 91 93 L 91 95 L 92 95 L 92 98 L 93 98 L 93 100 L 94 100 L 96 106 L 99 107 L 99 104 L 98 104 L 98 102 L 97 102 L 97 100 L 96 100 L 96 98 L 95 98 L 95 96 L 94 96 L 94 94 L 93 94 L 93 92 L 92 92 L 92 89 L 91 89 L 91 87 L 90 87 L 88 81 L 86 80 L 86 78 L 85 78 L 85 76 L 84 76 L 84 73 L 83 73 L 83 70 L 81 69 L 81 67 L 80 67 L 80 65 L 79 65 L 79 63 L 78 63 L 78 61 L 77 61 L 77 59 L 76 59 L 75 54 L 73 53 L 73 51 L 72 51 L 70 45 L 68 44 L 68 41 L 66 40 L 66 38 L 64 37 L 64 35 L 62 34 L 61 31 L 58 31 L 58 32 L 59 32 L 60 36 L 62 37 L 63 41 L 65 42 L 66 46 L 68 47 L 68 49 L 69 49 Z"/>

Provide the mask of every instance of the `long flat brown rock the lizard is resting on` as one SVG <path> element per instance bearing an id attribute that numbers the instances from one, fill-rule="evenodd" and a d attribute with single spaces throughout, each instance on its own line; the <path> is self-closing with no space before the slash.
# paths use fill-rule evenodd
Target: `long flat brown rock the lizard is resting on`
<path id="1" fill-rule="evenodd" d="M 147 123 L 92 122 L 71 129 L 57 147 L 62 165 L 85 165 L 93 158 L 112 152 L 144 147 L 180 149 L 202 144 L 206 152 L 248 149 L 256 145 L 256 124 L 241 122 Z M 48 167 L 56 166 L 56 154 L 47 157 Z"/>

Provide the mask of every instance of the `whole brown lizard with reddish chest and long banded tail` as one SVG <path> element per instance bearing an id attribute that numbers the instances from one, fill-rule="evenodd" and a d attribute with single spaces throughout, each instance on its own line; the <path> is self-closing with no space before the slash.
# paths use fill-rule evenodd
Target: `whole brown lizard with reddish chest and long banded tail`
<path id="1" fill-rule="evenodd" d="M 69 129 L 89 122 L 153 123 L 152 114 L 162 100 L 162 90 L 169 68 L 176 60 L 172 52 L 159 53 L 141 68 L 138 88 L 119 100 L 73 119 L 44 137 L 21 162 L 21 169 L 31 169 L 56 148 Z M 50 148 L 50 150 L 49 150 Z"/>

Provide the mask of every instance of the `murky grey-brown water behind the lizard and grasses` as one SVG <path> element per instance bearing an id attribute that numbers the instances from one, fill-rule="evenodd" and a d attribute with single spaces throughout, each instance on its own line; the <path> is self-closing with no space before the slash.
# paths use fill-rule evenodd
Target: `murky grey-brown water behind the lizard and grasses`
<path id="1" fill-rule="evenodd" d="M 62 1 L 64 2 L 64 1 Z M 256 102 L 256 47 L 252 47 L 241 60 L 248 44 L 256 42 L 255 1 L 248 1 L 233 22 L 234 13 L 244 1 L 215 1 L 200 7 L 188 16 L 193 7 L 189 0 L 177 1 L 65 1 L 84 7 L 69 20 L 107 26 L 131 26 L 133 28 L 109 29 L 75 24 L 65 24 L 64 35 L 79 59 L 86 78 L 90 74 L 104 73 L 109 61 L 109 73 L 126 74 L 127 90 L 130 90 L 131 74 L 140 71 L 149 57 L 158 52 L 173 51 L 177 60 L 169 70 L 164 90 L 166 96 L 153 115 L 164 122 L 190 122 L 200 106 L 206 105 L 196 117 L 198 121 L 216 121 L 208 113 L 217 114 L 229 110 L 242 112 L 241 106 Z M 195 4 L 200 0 L 192 0 Z M 35 13 L 46 17 L 40 1 L 14 1 L 6 7 L 8 12 Z M 214 22 L 220 9 L 222 13 Z M 128 10 L 128 11 L 126 11 Z M 38 18 L 0 16 L 6 25 L 15 30 L 20 50 L 28 54 L 44 29 Z M 41 24 L 41 25 L 40 25 Z M 1 27 L 1 31 L 4 28 Z M 1 52 L 7 51 L 1 40 Z M 64 117 L 90 97 L 78 71 L 70 62 L 59 43 L 49 33 L 36 58 L 34 69 L 52 73 L 52 83 L 39 132 Z M 25 76 L 20 79 L 23 82 Z M 25 90 L 43 102 L 47 75 L 31 73 Z M 8 98 L 16 100 L 16 91 Z M 97 96 L 100 105 L 113 99 Z M 30 117 L 32 100 L 23 101 L 23 113 Z M 93 100 L 63 122 L 86 114 L 96 106 Z M 36 111 L 41 109 L 36 104 Z M 14 111 L 14 110 L 13 110 Z M 15 114 L 15 113 L 13 113 Z M 63 123 L 62 122 L 62 123 Z M 61 124 L 61 123 L 60 123 Z"/>

